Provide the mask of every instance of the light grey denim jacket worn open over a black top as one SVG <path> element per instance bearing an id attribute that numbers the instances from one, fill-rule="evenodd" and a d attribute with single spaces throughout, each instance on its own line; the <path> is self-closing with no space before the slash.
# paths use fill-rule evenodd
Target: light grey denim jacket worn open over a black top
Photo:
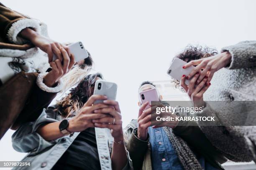
<path id="1" fill-rule="evenodd" d="M 13 134 L 13 148 L 18 152 L 28 153 L 22 161 L 31 162 L 29 167 L 17 167 L 14 168 L 15 170 L 50 170 L 79 135 L 79 132 L 75 132 L 72 136 L 64 136 L 56 140 L 46 141 L 36 132 L 41 125 L 64 119 L 54 109 L 55 107 L 48 107 L 35 122 L 25 123 Z M 100 166 L 102 169 L 111 170 L 110 155 L 113 137 L 110 134 L 110 130 L 106 128 L 95 128 L 95 134 Z M 132 162 L 127 150 L 126 155 L 128 163 L 123 170 L 132 170 Z"/>

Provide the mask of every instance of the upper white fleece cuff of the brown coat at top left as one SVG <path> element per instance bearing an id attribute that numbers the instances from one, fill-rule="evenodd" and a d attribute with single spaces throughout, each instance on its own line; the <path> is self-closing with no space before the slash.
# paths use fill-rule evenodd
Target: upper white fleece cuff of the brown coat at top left
<path id="1" fill-rule="evenodd" d="M 25 18 L 13 23 L 7 33 L 8 40 L 19 45 L 29 42 L 28 40 L 18 36 L 20 31 L 25 28 L 33 28 L 36 32 L 41 32 L 40 25 L 36 20 Z"/>

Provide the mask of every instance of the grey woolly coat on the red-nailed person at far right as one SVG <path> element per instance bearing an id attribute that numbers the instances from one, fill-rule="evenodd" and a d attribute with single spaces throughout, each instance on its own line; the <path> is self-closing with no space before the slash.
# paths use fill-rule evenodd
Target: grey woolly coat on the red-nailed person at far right
<path id="1" fill-rule="evenodd" d="M 224 47 L 222 51 L 231 53 L 231 63 L 215 72 L 212 85 L 204 94 L 204 100 L 230 101 L 230 105 L 233 101 L 256 101 L 256 41 L 240 42 Z M 228 107 L 224 111 L 218 111 L 221 106 L 220 109 L 213 110 L 207 105 L 203 114 L 218 117 L 221 122 L 246 116 L 234 115 Z M 256 126 L 203 126 L 203 122 L 199 122 L 199 125 L 211 143 L 228 159 L 256 162 Z"/>

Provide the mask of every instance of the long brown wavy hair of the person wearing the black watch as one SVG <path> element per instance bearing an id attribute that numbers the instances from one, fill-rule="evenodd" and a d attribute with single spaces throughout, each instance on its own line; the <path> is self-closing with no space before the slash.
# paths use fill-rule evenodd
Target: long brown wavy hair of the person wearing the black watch
<path id="1" fill-rule="evenodd" d="M 77 87 L 72 88 L 67 96 L 57 102 L 56 110 L 60 111 L 62 117 L 72 117 L 77 114 L 91 96 L 91 87 L 94 87 L 97 77 L 103 79 L 103 75 L 98 72 L 85 76 Z"/>

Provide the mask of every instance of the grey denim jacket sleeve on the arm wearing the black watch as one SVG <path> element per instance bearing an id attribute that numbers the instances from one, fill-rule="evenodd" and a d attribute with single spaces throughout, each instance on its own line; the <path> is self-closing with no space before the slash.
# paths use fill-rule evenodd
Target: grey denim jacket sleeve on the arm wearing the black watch
<path id="1" fill-rule="evenodd" d="M 51 145 L 54 145 L 56 141 L 46 141 L 39 135 L 36 130 L 41 125 L 56 122 L 53 118 L 47 117 L 46 110 L 41 113 L 35 122 L 27 122 L 18 128 L 12 135 L 13 148 L 18 152 L 38 153 Z"/>

